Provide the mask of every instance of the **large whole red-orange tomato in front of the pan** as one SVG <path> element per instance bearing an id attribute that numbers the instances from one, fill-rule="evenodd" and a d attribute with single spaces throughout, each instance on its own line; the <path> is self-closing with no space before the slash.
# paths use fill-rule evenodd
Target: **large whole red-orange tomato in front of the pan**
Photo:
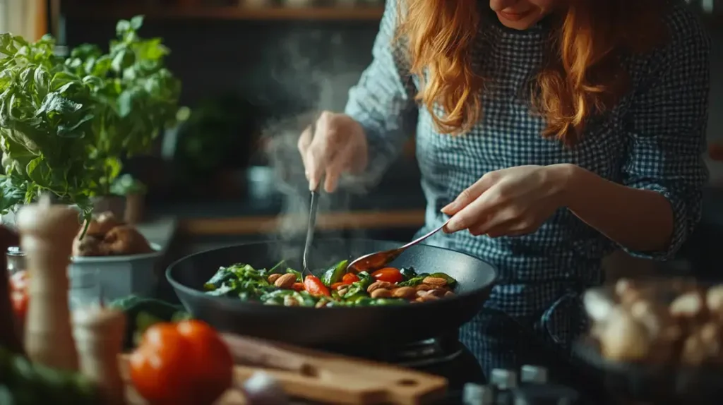
<path id="1" fill-rule="evenodd" d="M 156 323 L 131 354 L 136 391 L 152 405 L 210 405 L 230 386 L 234 359 L 201 321 Z"/>

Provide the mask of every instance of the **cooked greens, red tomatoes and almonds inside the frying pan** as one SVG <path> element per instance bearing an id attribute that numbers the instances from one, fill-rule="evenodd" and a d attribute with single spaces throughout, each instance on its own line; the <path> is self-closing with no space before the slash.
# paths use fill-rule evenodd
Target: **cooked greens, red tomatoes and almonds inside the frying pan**
<path id="1" fill-rule="evenodd" d="M 354 307 L 405 305 L 452 297 L 457 281 L 444 273 L 416 273 L 413 268 L 387 267 L 372 272 L 347 270 L 340 261 L 321 277 L 306 276 L 281 261 L 271 269 L 249 264 L 221 267 L 203 288 L 208 295 L 239 297 L 266 305 Z"/>

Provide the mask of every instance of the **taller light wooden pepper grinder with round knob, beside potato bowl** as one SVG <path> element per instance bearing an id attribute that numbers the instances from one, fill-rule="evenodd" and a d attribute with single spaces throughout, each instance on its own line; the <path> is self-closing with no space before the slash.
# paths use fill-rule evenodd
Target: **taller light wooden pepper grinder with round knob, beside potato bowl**
<path id="1" fill-rule="evenodd" d="M 33 362 L 72 371 L 78 359 L 68 308 L 68 264 L 79 226 L 77 211 L 52 205 L 48 198 L 23 206 L 17 217 L 30 279 L 25 351 Z"/>

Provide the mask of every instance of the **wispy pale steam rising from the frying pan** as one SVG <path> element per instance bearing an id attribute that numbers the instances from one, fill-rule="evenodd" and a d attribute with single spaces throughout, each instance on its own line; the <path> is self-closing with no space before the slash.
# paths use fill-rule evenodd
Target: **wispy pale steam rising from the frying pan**
<path id="1" fill-rule="evenodd" d="M 310 35 L 309 35 L 310 34 Z M 348 94 L 348 89 L 359 79 L 364 66 L 354 66 L 347 62 L 333 58 L 326 61 L 323 66 L 312 64 L 309 56 L 304 56 L 302 49 L 313 51 L 310 43 L 319 43 L 321 30 L 299 32 L 299 35 L 290 35 L 281 46 L 281 53 L 285 55 L 283 66 L 278 66 L 272 72 L 273 77 L 282 88 L 301 90 L 299 95 L 310 108 L 295 116 L 286 117 L 270 123 L 263 131 L 263 137 L 268 141 L 265 150 L 269 165 L 275 172 L 275 181 L 278 191 L 283 195 L 283 208 L 281 220 L 278 225 L 278 238 L 281 240 L 302 240 L 304 238 L 309 214 L 309 182 L 304 175 L 304 167 L 297 149 L 297 142 L 301 132 L 310 126 L 322 110 L 341 111 Z M 330 54 L 341 54 L 341 35 L 331 38 Z M 332 194 L 321 192 L 319 201 L 319 214 L 317 227 L 322 222 L 325 213 L 349 212 L 351 202 L 355 196 L 365 193 L 370 186 L 368 180 L 364 182 L 350 176 L 343 176 L 337 191 Z M 352 224 L 354 228 L 354 224 Z M 364 238 L 363 230 L 324 231 L 325 238 Z M 319 238 L 319 232 L 317 232 Z M 301 243 L 288 243 L 288 251 L 280 252 L 284 258 L 299 258 Z M 318 244 L 316 244 L 319 246 Z M 341 257 L 341 252 L 324 252 L 330 256 L 325 261 L 334 261 Z M 341 255 L 341 256 L 340 256 Z M 337 256 L 337 257 L 331 257 Z M 324 266 L 326 263 L 315 264 Z"/>

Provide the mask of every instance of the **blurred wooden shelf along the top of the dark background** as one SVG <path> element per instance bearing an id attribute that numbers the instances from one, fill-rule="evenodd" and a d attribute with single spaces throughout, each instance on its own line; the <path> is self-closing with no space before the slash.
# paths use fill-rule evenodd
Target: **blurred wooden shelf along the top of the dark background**
<path id="1" fill-rule="evenodd" d="M 149 19 L 373 21 L 381 19 L 383 11 L 382 6 L 67 6 L 62 14 L 74 19 L 122 19 L 143 14 Z"/>

